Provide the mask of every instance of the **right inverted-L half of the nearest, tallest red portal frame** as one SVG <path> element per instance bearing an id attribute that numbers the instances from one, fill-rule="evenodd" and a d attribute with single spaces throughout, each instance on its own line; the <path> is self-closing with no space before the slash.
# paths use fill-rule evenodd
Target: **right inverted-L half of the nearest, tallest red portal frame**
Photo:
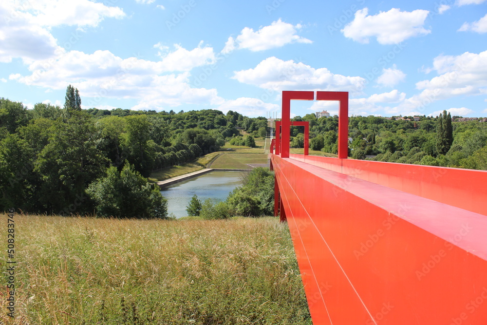
<path id="1" fill-rule="evenodd" d="M 348 92 L 317 92 L 316 100 L 337 100 L 338 158 L 348 158 Z"/>

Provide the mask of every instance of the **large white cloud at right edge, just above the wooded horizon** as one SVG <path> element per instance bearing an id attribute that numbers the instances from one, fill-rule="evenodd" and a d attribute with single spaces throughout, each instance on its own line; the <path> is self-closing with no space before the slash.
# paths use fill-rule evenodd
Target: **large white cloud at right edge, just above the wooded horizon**
<path id="1" fill-rule="evenodd" d="M 421 93 L 405 99 L 398 110 L 424 110 L 437 100 L 487 94 L 487 51 L 435 57 L 432 70 L 438 76 L 417 82 Z"/>

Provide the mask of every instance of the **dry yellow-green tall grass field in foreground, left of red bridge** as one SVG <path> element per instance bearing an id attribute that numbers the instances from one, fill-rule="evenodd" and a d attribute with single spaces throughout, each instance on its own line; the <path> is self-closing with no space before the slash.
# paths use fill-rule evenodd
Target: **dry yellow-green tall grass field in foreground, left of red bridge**
<path id="1" fill-rule="evenodd" d="M 312 324 L 277 218 L 14 218 L 15 324 Z"/>

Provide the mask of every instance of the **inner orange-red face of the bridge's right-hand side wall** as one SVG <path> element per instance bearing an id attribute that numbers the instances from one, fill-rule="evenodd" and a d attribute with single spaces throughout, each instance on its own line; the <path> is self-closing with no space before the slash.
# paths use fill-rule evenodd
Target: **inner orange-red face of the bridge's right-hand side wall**
<path id="1" fill-rule="evenodd" d="M 291 157 L 335 172 L 487 215 L 487 204 L 485 203 L 487 202 L 487 171 L 356 159 L 345 160 L 301 154 L 292 154 Z"/>

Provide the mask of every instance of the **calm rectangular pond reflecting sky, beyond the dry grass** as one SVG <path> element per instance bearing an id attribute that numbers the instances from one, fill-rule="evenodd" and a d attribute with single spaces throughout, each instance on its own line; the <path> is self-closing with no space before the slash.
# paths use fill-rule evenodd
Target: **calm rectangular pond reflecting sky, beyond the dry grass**
<path id="1" fill-rule="evenodd" d="M 186 207 L 194 194 L 201 202 L 208 198 L 225 201 L 241 185 L 241 175 L 240 171 L 213 171 L 162 188 L 161 194 L 168 200 L 168 214 L 187 216 Z"/>

